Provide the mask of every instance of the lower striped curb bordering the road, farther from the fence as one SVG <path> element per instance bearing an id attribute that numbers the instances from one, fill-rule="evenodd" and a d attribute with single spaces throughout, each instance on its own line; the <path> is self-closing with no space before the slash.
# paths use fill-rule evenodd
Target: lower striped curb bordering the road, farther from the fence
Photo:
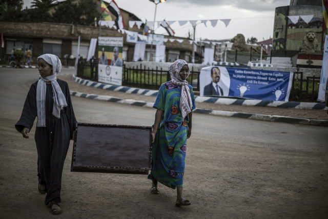
<path id="1" fill-rule="evenodd" d="M 116 87 L 120 87 L 120 86 L 116 86 Z M 108 101 L 108 102 L 115 102 L 120 104 L 129 104 L 132 106 L 139 106 L 139 107 L 153 108 L 154 105 L 154 103 L 151 102 L 134 101 L 133 99 L 121 99 L 113 96 L 87 94 L 77 91 L 70 91 L 70 94 L 71 96 L 98 99 L 99 101 Z M 281 122 L 281 123 L 328 127 L 328 120 L 312 120 L 309 118 L 295 118 L 295 117 L 279 116 L 279 115 L 250 114 L 250 113 L 230 112 L 230 111 L 221 111 L 221 110 L 207 110 L 207 109 L 199 109 L 199 108 L 196 108 L 194 112 L 202 113 L 202 114 L 210 114 L 210 115 L 236 117 L 236 118 L 250 118 L 252 120 L 261 120 L 261 121 L 269 121 L 269 122 Z"/>

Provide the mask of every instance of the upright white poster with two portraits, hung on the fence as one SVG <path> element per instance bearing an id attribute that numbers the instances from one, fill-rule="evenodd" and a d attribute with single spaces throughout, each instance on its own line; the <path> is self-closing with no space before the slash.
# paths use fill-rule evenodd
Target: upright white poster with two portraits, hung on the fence
<path id="1" fill-rule="evenodd" d="M 98 37 L 98 82 L 122 85 L 123 37 Z"/>

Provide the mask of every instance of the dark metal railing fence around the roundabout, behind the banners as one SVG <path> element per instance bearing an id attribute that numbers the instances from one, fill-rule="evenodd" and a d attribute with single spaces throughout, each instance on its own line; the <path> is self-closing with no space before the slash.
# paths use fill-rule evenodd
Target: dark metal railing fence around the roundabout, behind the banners
<path id="1" fill-rule="evenodd" d="M 194 91 L 199 91 L 199 71 L 192 68 L 187 79 Z M 98 81 L 98 64 L 80 61 L 77 65 L 77 76 Z M 162 68 L 150 69 L 142 65 L 136 68 L 122 68 L 122 85 L 137 88 L 158 90 L 162 83 L 170 81 L 170 73 Z M 289 101 L 316 102 L 319 92 L 320 77 L 308 76 L 303 78 L 303 72 L 294 72 Z"/>

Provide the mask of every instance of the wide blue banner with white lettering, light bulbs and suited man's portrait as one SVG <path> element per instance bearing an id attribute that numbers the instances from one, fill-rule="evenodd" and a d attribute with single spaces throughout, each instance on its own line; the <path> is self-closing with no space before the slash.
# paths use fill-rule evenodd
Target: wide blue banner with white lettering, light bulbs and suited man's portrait
<path id="1" fill-rule="evenodd" d="M 200 96 L 288 101 L 293 72 L 209 66 L 199 74 Z"/>

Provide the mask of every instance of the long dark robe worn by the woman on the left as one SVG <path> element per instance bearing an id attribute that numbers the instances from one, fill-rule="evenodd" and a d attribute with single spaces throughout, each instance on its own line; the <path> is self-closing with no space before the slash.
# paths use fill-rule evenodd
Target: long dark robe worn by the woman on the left
<path id="1" fill-rule="evenodd" d="M 63 91 L 67 107 L 60 111 L 60 118 L 52 115 L 53 90 L 51 84 L 47 84 L 46 92 L 46 127 L 36 127 L 34 140 L 37 149 L 37 176 L 40 184 L 46 185 L 46 200 L 60 203 L 61 175 L 63 173 L 64 161 L 69 148 L 70 140 L 75 130 L 76 119 L 72 107 L 71 95 L 68 84 L 57 79 Z M 16 123 L 15 128 L 22 133 L 24 127 L 32 129 L 36 109 L 36 87 L 35 82 L 31 85 L 27 94 L 22 115 Z"/>

